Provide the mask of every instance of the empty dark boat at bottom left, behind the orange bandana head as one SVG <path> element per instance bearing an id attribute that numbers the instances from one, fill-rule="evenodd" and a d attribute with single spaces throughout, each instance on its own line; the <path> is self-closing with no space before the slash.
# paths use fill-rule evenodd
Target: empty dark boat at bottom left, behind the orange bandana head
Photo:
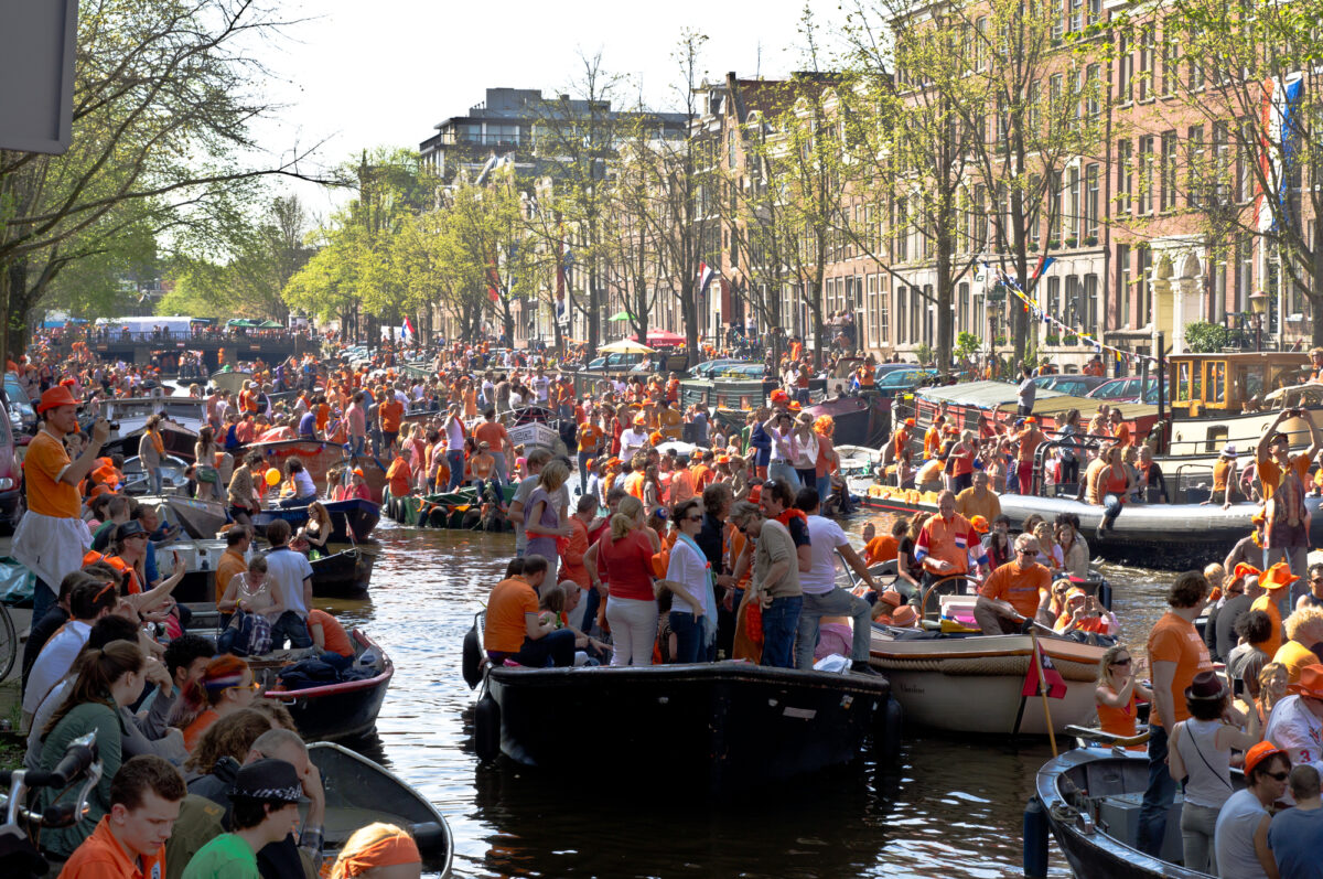
<path id="1" fill-rule="evenodd" d="M 323 843 L 328 860 L 355 830 L 384 821 L 414 838 L 425 872 L 442 879 L 450 875 L 455 841 L 446 818 L 426 797 L 381 764 L 333 741 L 311 743 L 308 760 L 325 786 Z"/>

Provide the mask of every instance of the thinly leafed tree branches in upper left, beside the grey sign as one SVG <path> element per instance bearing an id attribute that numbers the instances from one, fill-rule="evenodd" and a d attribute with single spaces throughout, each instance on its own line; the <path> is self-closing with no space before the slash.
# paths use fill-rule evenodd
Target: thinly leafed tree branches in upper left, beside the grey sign
<path id="1" fill-rule="evenodd" d="M 302 151 L 274 165 L 238 158 L 273 109 L 242 44 L 282 24 L 253 0 L 81 4 L 69 151 L 0 152 L 0 356 L 25 347 L 28 314 L 60 273 L 127 230 L 205 225 L 213 201 L 258 177 L 299 176 Z"/>

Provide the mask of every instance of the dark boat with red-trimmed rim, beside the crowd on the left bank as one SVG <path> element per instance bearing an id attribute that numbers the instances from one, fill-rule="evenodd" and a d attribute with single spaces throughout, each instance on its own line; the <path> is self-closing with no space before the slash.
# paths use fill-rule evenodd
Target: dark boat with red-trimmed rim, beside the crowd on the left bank
<path id="1" fill-rule="evenodd" d="M 287 662 L 249 661 L 257 680 L 267 687 L 262 695 L 288 708 L 299 735 L 310 741 L 352 739 L 377 725 L 377 714 L 386 699 L 396 666 L 361 630 L 355 629 L 349 639 L 357 657 L 355 665 L 370 667 L 374 672 L 370 678 L 306 690 L 275 690 L 273 687 L 279 686 L 277 674 Z"/>

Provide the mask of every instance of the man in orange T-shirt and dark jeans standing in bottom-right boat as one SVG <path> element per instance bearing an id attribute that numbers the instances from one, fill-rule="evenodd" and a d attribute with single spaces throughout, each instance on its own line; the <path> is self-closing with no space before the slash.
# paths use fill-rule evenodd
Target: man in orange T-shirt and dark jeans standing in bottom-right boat
<path id="1" fill-rule="evenodd" d="M 1176 782 L 1167 769 L 1167 741 L 1172 727 L 1189 716 L 1185 688 L 1200 671 L 1213 669 L 1208 646 L 1195 629 L 1207 597 L 1203 573 L 1179 575 L 1167 590 L 1170 609 L 1148 633 L 1154 702 L 1148 715 L 1148 788 L 1139 808 L 1136 847 L 1155 858 L 1167 833 L 1167 809 L 1176 796 Z"/>

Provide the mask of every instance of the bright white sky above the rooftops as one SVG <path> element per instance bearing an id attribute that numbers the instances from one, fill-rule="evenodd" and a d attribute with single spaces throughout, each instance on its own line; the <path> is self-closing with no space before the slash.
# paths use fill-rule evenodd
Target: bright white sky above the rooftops
<path id="1" fill-rule="evenodd" d="M 836 0 L 810 0 L 814 16 L 839 21 Z M 676 46 L 685 28 L 708 36 L 703 69 L 710 79 L 778 77 L 799 69 L 804 0 L 283 0 L 280 12 L 303 21 L 261 46 L 282 105 L 254 126 L 273 155 L 320 143 L 336 165 L 363 148 L 418 148 L 438 122 L 464 114 L 488 87 L 570 91 L 583 64 L 630 74 L 654 105 L 680 81 Z M 343 195 L 296 185 L 324 218 Z"/>

